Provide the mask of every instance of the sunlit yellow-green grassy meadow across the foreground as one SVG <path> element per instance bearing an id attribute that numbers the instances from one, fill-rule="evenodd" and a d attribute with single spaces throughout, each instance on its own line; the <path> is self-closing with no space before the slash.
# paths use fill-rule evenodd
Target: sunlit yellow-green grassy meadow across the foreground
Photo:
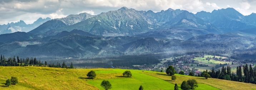
<path id="1" fill-rule="evenodd" d="M 94 70 L 97 74 L 95 79 L 88 79 L 86 74 Z M 173 90 L 177 83 L 179 88 L 184 80 L 196 79 L 198 86 L 195 90 L 247 90 L 256 89 L 255 84 L 235 82 L 220 79 L 203 79 L 187 75 L 177 76 L 176 81 L 164 72 L 130 70 L 132 77 L 123 77 L 124 69 L 61 69 L 50 67 L 4 67 L 0 66 L 0 89 L 1 90 L 103 90 L 100 87 L 102 80 L 109 80 L 111 90 L 136 90 L 140 85 L 145 90 Z M 11 76 L 19 79 L 17 85 L 5 87 L 5 80 Z M 181 90 L 181 89 L 180 89 Z"/>

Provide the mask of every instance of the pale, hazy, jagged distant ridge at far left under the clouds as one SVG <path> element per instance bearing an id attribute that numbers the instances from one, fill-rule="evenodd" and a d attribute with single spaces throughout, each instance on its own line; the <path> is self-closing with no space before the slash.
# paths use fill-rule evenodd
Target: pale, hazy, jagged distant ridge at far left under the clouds
<path id="1" fill-rule="evenodd" d="M 17 31 L 28 32 L 49 20 L 51 20 L 51 19 L 50 18 L 45 18 L 45 19 L 39 18 L 36 21 L 34 21 L 33 24 L 26 24 L 23 20 L 20 20 L 16 23 L 11 22 L 8 24 L 0 25 L 0 34 L 15 33 Z"/>

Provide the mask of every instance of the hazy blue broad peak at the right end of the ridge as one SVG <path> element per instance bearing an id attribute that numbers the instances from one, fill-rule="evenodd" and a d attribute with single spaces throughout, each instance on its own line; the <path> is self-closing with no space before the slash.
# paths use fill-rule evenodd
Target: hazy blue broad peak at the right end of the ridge
<path id="1" fill-rule="evenodd" d="M 247 24 L 245 16 L 233 8 L 213 10 L 211 13 L 198 12 L 196 16 L 211 23 L 225 33 L 255 27 Z"/>

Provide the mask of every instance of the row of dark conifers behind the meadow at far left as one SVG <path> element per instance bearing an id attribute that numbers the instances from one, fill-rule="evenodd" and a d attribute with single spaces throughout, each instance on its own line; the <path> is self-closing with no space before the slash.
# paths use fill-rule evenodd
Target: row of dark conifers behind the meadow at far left
<path id="1" fill-rule="evenodd" d="M 17 57 L 9 57 L 8 59 L 6 59 L 5 56 L 1 55 L 0 56 L 0 66 L 45 66 L 45 67 L 58 67 L 58 68 L 69 68 L 69 69 L 73 69 L 73 63 L 71 62 L 71 65 L 68 66 L 67 64 L 65 64 L 65 62 L 63 61 L 62 64 L 60 64 L 59 62 L 57 62 L 57 64 L 47 64 L 46 61 L 41 61 L 41 60 L 37 60 L 36 57 L 27 57 L 27 58 L 19 58 L 19 56 Z"/>

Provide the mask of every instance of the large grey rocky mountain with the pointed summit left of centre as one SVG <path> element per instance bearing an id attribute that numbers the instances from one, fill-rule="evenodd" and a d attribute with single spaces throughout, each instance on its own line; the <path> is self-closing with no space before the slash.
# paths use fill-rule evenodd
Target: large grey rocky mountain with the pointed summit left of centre
<path id="1" fill-rule="evenodd" d="M 152 25 L 143 15 L 144 12 L 122 7 L 116 11 L 103 12 L 93 18 L 56 30 L 78 29 L 104 36 L 141 33 L 155 28 L 155 25 Z"/>

